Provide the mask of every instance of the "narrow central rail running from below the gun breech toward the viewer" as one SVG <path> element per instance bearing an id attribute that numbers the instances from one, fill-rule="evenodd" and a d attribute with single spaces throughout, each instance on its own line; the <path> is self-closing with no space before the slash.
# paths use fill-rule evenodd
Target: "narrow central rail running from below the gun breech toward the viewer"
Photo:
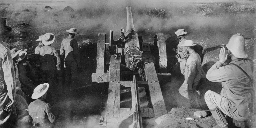
<path id="1" fill-rule="evenodd" d="M 136 83 L 135 76 L 133 76 L 133 81 L 131 81 L 131 92 L 132 92 L 133 128 L 142 128 L 142 118 L 140 114 L 140 98 L 139 98 L 138 85 Z"/>

